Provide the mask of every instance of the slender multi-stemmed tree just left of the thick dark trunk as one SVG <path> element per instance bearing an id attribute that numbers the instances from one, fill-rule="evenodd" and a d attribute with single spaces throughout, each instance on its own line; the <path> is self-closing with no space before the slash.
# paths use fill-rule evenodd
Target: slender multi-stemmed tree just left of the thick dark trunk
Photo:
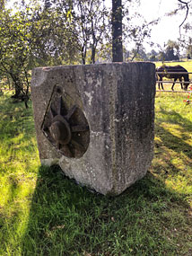
<path id="1" fill-rule="evenodd" d="M 95 63 L 98 45 L 103 44 L 104 40 L 108 38 L 109 23 L 107 22 L 109 11 L 102 0 L 77 0 L 75 3 L 77 12 L 74 12 L 74 22 L 83 64 L 86 62 L 87 49 L 92 50 L 90 63 Z"/>

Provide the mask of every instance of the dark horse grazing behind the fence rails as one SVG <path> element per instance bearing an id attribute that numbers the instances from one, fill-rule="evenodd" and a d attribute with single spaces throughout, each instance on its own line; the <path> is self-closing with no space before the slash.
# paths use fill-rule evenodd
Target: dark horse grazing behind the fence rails
<path id="1" fill-rule="evenodd" d="M 156 72 L 163 72 L 163 74 L 157 74 L 157 81 L 162 81 L 162 77 L 167 77 L 167 78 L 174 78 L 174 82 L 172 84 L 171 90 L 173 90 L 173 87 L 175 85 L 176 80 L 179 79 L 180 81 L 180 85 L 181 85 L 181 89 L 184 89 L 185 91 L 188 90 L 188 84 L 186 82 L 189 82 L 189 78 L 188 78 L 188 74 L 184 74 L 184 73 L 188 73 L 188 70 L 186 70 L 183 66 L 160 66 L 156 68 Z M 169 72 L 179 72 L 179 73 L 183 73 L 183 74 L 169 74 Z M 182 77 L 184 79 L 184 83 L 182 83 Z M 158 83 L 159 85 L 159 90 L 160 89 L 160 84 L 161 84 L 161 89 L 164 90 L 162 83 Z M 184 88 L 183 88 L 184 85 Z"/>

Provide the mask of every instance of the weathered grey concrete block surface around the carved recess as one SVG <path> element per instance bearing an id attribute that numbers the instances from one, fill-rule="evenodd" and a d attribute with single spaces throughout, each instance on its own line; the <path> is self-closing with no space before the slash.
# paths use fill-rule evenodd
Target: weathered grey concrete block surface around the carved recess
<path id="1" fill-rule="evenodd" d="M 42 131 L 56 86 L 89 124 L 81 157 L 68 157 Z M 31 98 L 43 164 L 58 163 L 70 178 L 118 195 L 144 177 L 153 159 L 155 67 L 152 63 L 55 66 L 33 70 Z"/>

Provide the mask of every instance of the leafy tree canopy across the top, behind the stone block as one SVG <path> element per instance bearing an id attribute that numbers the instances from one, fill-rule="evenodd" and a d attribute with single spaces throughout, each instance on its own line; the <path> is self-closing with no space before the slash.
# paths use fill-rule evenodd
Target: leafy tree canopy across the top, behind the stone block
<path id="1" fill-rule="evenodd" d="M 111 61 L 112 45 L 113 50 L 122 49 L 122 42 L 123 55 L 117 55 L 121 56 L 118 61 L 153 60 L 159 54 L 147 55 L 144 50 L 144 40 L 150 39 L 157 21 L 145 22 L 141 13 L 130 12 L 139 0 L 123 4 L 113 0 L 117 13 L 104 0 L 15 0 L 12 8 L 9 2 L 0 1 L 0 77 L 12 80 L 16 96 L 29 94 L 34 66 Z M 179 4 L 179 8 L 187 6 L 185 1 Z M 137 17 L 139 22 L 135 22 Z M 190 24 L 184 22 L 189 30 Z M 112 37 L 114 28 L 116 39 Z M 133 50 L 127 47 L 130 43 Z M 188 57 L 192 55 L 189 46 Z M 161 52 L 164 58 L 173 59 L 179 56 L 179 46 L 170 41 Z"/>

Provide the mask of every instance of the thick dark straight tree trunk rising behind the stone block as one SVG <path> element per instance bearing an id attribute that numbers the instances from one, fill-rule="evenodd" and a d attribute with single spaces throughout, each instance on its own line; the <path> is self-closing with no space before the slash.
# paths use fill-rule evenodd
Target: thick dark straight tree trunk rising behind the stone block
<path id="1" fill-rule="evenodd" d="M 121 0 L 112 0 L 112 61 L 123 61 Z"/>

